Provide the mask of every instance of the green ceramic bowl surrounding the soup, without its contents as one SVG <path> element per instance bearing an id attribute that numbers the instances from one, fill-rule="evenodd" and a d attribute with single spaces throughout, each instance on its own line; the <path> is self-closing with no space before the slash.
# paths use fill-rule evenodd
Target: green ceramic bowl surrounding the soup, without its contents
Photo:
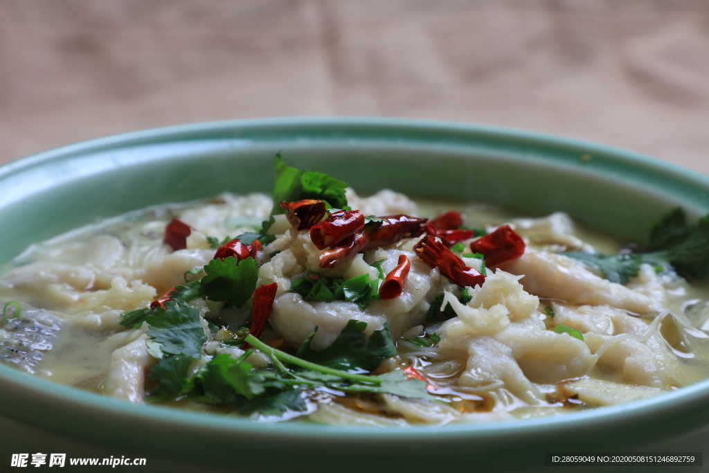
<path id="1" fill-rule="evenodd" d="M 629 240 L 642 240 L 671 207 L 691 216 L 709 211 L 708 177 L 579 140 L 398 119 L 227 121 L 102 138 L 1 167 L 0 261 L 30 243 L 150 204 L 268 191 L 278 151 L 289 164 L 333 174 L 361 194 L 389 187 L 522 213 L 566 211 Z M 65 452 L 147 459 L 147 467 L 131 471 L 529 472 L 548 470 L 545 452 L 706 452 L 709 380 L 561 417 L 373 429 L 134 406 L 0 366 L 0 416 L 3 471 L 13 453 Z"/>

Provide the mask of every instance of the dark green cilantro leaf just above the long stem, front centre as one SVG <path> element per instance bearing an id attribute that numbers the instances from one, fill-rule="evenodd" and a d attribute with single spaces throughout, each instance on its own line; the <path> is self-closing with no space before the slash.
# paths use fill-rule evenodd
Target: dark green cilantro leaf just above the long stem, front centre
<path id="1" fill-rule="evenodd" d="M 298 348 L 296 356 L 345 372 L 371 372 L 379 367 L 381 362 L 396 356 L 398 352 L 389 333 L 389 324 L 385 323 L 381 330 L 374 330 L 369 341 L 364 334 L 366 328 L 366 322 L 350 320 L 335 341 L 321 352 L 311 348 L 311 341 L 316 333 L 313 332 Z"/>

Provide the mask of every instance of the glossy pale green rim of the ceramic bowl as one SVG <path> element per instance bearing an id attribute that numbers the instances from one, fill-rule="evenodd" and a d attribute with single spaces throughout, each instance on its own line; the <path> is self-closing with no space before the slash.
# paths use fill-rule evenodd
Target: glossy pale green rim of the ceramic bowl
<path id="1" fill-rule="evenodd" d="M 486 135 L 496 140 L 516 140 L 533 145 L 572 148 L 574 150 L 586 150 L 593 155 L 610 156 L 615 162 L 623 163 L 625 166 L 640 169 L 652 170 L 668 174 L 674 179 L 686 182 L 698 188 L 705 189 L 709 195 L 709 177 L 690 169 L 674 165 L 671 162 L 664 162 L 656 158 L 643 155 L 638 152 L 616 148 L 609 145 L 601 145 L 586 140 L 576 138 L 566 138 L 562 136 L 538 133 L 529 130 L 518 130 L 501 126 L 491 126 L 473 123 L 459 123 L 450 121 L 428 121 L 404 118 L 370 118 L 370 117 L 289 117 L 289 118 L 255 118 L 243 120 L 211 121 L 201 123 L 191 123 L 186 125 L 168 126 L 162 128 L 152 128 L 139 130 L 118 135 L 111 135 L 104 138 L 87 140 L 82 143 L 62 146 L 53 150 L 37 153 L 28 157 L 9 162 L 0 167 L 0 181 L 9 179 L 14 174 L 19 174 L 35 167 L 42 167 L 48 162 L 57 160 L 70 160 L 81 155 L 90 155 L 106 149 L 116 147 L 136 146 L 146 143 L 169 142 L 176 138 L 199 139 L 209 138 L 219 133 L 229 133 L 233 130 L 241 130 L 248 134 L 250 130 L 259 129 L 289 129 L 289 130 L 313 130 L 332 129 L 347 133 L 347 130 L 357 128 L 372 128 L 380 130 L 381 133 L 391 133 L 392 130 L 407 130 L 409 133 L 416 131 L 426 131 L 427 133 L 448 133 L 462 135 Z M 600 409 L 580 411 L 566 414 L 562 417 L 546 416 L 541 418 L 530 418 L 511 421 L 494 421 L 489 423 L 462 423 L 459 425 L 446 425 L 445 428 L 432 426 L 409 426 L 406 428 L 383 428 L 373 429 L 368 427 L 338 427 L 332 425 L 316 425 L 308 423 L 257 423 L 246 418 L 235 418 L 211 413 L 194 413 L 164 406 L 143 406 L 129 404 L 125 401 L 109 399 L 99 394 L 94 394 L 81 389 L 64 386 L 50 382 L 45 379 L 33 377 L 0 365 L 0 382 L 6 387 L 11 386 L 15 390 L 16 399 L 33 399 L 41 401 L 41 398 L 48 397 L 53 407 L 63 406 L 68 412 L 78 412 L 91 410 L 95 415 L 111 415 L 114 418 L 136 419 L 140 421 L 150 421 L 156 425 L 162 425 L 165 429 L 181 430 L 190 428 L 200 431 L 212 431 L 220 433 L 230 433 L 238 435 L 267 435 L 272 438 L 274 435 L 284 438 L 292 438 L 294 435 L 307 438 L 309 441 L 341 441 L 366 440 L 367 442 L 377 442 L 380 440 L 401 440 L 406 441 L 416 438 L 422 441 L 442 442 L 460 438 L 479 438 L 481 436 L 495 435 L 506 437 L 508 435 L 520 434 L 542 434 L 568 428 L 573 424 L 574 429 L 592 428 L 608 422 L 630 421 L 642 416 L 657 418 L 657 416 L 669 416 L 671 411 L 684 405 L 698 406 L 709 400 L 709 379 L 705 379 L 690 386 L 684 386 L 677 391 L 671 391 L 649 399 L 633 401 L 629 404 L 618 406 L 607 406 Z M 705 403 L 706 404 L 706 403 Z M 6 408 L 0 408 L 0 413 L 16 418 L 27 423 L 36 423 L 47 426 L 37 420 L 23 415 L 22 413 L 11 412 Z M 50 425 L 50 429 L 63 431 L 62 425 L 55 422 Z"/>

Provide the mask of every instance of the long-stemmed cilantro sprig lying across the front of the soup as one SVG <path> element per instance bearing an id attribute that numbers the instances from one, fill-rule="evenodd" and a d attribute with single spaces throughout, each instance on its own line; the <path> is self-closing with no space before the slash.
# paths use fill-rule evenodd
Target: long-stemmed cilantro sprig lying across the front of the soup
<path id="1" fill-rule="evenodd" d="M 362 325 L 363 324 L 363 325 Z M 335 343 L 323 352 L 313 352 L 306 340 L 297 355 L 270 347 L 253 335 L 245 341 L 271 358 L 273 365 L 255 369 L 246 360 L 252 350 L 238 360 L 227 354 L 216 355 L 190 374 L 194 363 L 187 355 L 164 357 L 153 367 L 151 377 L 160 385 L 150 393 L 151 401 L 187 398 L 209 404 L 233 406 L 244 414 L 260 413 L 278 416 L 286 411 L 305 411 L 303 390 L 327 387 L 357 394 L 395 394 L 408 398 L 435 399 L 426 391 L 426 383 L 409 379 L 401 370 L 379 376 L 354 372 L 381 363 L 396 355 L 391 335 L 386 328 L 375 330 L 369 338 L 367 352 L 362 352 L 362 339 L 352 335 L 362 334 L 367 324 L 350 321 Z M 377 333 L 381 332 L 379 338 Z M 348 343 L 353 342 L 348 346 Z M 386 347 L 385 347 L 386 345 Z M 374 348 L 374 350 L 371 350 Z M 376 352 L 372 355 L 370 351 Z M 320 355 L 313 355 L 320 353 Z M 306 357 L 318 357 L 316 363 Z M 376 360 L 375 360 L 376 358 Z M 343 361 L 344 360 L 344 361 Z M 346 369 L 337 369 L 338 366 Z M 364 368 L 367 367 L 367 368 Z"/>

